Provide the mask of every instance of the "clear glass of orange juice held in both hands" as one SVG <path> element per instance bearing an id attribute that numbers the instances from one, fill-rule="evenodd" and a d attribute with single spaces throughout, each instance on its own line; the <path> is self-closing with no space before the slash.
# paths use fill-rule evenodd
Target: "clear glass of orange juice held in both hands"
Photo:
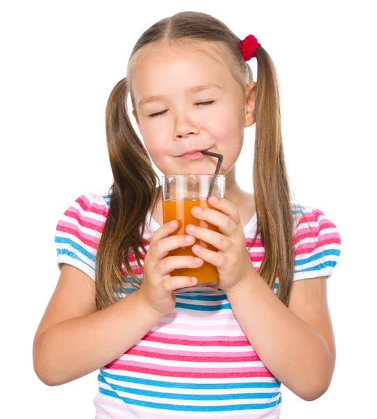
<path id="1" fill-rule="evenodd" d="M 225 175 L 163 175 L 163 223 L 168 223 L 172 220 L 177 220 L 179 223 L 179 226 L 171 235 L 188 234 L 186 233 L 188 224 L 209 228 L 209 230 L 220 233 L 219 228 L 214 226 L 214 224 L 195 218 L 191 210 L 193 207 L 207 207 L 219 211 L 209 204 L 208 198 L 209 196 L 223 198 L 225 181 Z M 170 251 L 168 256 L 196 256 L 192 251 L 194 244 L 217 251 L 211 244 L 195 239 L 195 243 Z M 200 267 L 175 269 L 170 272 L 170 275 L 172 277 L 185 276 L 198 279 L 195 286 L 176 290 L 176 295 L 216 294 L 218 291 L 219 272 L 212 263 L 208 263 L 205 260 Z"/>

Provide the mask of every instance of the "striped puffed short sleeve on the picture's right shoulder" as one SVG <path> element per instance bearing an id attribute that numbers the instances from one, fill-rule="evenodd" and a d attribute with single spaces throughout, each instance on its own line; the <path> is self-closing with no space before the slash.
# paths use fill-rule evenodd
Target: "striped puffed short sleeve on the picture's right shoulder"
<path id="1" fill-rule="evenodd" d="M 295 214 L 295 272 L 293 280 L 331 277 L 337 265 L 341 238 L 337 226 L 320 210 L 300 206 Z"/>

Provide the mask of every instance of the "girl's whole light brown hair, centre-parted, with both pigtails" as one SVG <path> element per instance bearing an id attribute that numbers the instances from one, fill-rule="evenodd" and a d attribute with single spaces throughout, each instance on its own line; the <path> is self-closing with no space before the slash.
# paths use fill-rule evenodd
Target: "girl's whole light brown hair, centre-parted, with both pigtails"
<path id="1" fill-rule="evenodd" d="M 127 109 L 127 96 L 135 109 L 132 80 L 143 54 L 161 43 L 179 47 L 192 45 L 195 50 L 221 57 L 222 64 L 247 96 L 247 86 L 253 81 L 251 68 L 240 52 L 242 40 L 211 15 L 186 11 L 166 17 L 153 24 L 138 39 L 128 61 L 128 76 L 120 80 L 110 93 L 106 107 L 106 136 L 110 165 L 114 181 L 110 188 L 111 200 L 108 217 L 96 255 L 96 304 L 107 307 L 129 292 L 130 286 L 140 286 L 128 257 L 135 260 L 143 271 L 140 260 L 146 253 L 142 235 L 147 212 L 154 211 L 160 180 L 154 171 L 142 141 L 131 124 Z M 279 274 L 276 295 L 288 306 L 294 273 L 293 208 L 281 138 L 279 86 L 272 59 L 263 47 L 256 49 L 258 83 L 256 85 L 255 124 L 256 140 L 253 161 L 253 189 L 256 203 L 256 237 L 265 248 L 258 274 L 273 290 Z M 158 187 L 156 187 L 158 184 Z M 142 228 L 140 233 L 140 227 Z M 249 251 L 248 249 L 248 251 Z M 121 263 L 127 274 L 124 278 Z"/>

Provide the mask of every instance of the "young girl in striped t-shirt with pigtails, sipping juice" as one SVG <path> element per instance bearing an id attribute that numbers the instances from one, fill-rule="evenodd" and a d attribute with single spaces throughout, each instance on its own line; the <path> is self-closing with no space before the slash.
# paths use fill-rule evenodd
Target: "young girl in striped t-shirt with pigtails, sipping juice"
<path id="1" fill-rule="evenodd" d="M 235 165 L 254 123 L 250 194 Z M 276 73 L 256 38 L 204 13 L 157 22 L 110 94 L 106 133 L 109 193 L 80 196 L 57 224 L 61 274 L 34 339 L 40 380 L 99 369 L 97 419 L 279 418 L 281 383 L 305 400 L 323 395 L 335 363 L 326 281 L 341 241 L 323 212 L 292 203 Z M 177 235 L 177 222 L 163 224 L 151 160 L 166 174 L 214 173 L 212 156 L 182 159 L 203 149 L 223 154 L 226 198 L 194 216 L 221 233 Z M 188 244 L 199 261 L 168 256 Z M 219 293 L 176 297 L 196 279 L 170 272 L 203 260 Z"/>

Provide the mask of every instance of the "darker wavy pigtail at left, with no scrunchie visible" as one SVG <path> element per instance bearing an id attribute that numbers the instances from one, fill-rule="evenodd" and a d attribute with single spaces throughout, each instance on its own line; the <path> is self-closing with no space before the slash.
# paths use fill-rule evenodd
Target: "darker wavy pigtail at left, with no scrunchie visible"
<path id="1" fill-rule="evenodd" d="M 155 205 L 156 179 L 144 145 L 133 129 L 127 111 L 127 78 L 112 89 L 105 112 L 108 154 L 113 175 L 108 217 L 96 255 L 96 304 L 104 308 L 122 293 L 137 289 L 142 272 L 139 246 L 149 207 Z M 140 233 L 140 227 L 142 228 Z M 139 270 L 131 268 L 135 259 Z M 124 264 L 124 266 L 122 266 Z M 130 278 L 131 277 L 131 278 Z"/>

